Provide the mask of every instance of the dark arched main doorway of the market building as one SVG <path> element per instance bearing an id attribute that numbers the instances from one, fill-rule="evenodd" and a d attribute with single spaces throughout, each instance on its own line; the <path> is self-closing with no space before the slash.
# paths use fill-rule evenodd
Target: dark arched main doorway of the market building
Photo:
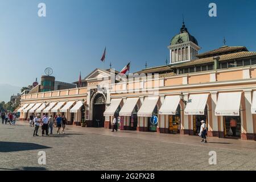
<path id="1" fill-rule="evenodd" d="M 97 94 L 93 100 L 93 127 L 104 127 L 105 97 Z"/>

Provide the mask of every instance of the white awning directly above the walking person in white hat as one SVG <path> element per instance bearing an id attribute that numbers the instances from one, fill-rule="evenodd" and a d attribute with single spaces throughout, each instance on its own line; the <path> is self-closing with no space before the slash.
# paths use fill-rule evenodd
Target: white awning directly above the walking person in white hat
<path id="1" fill-rule="evenodd" d="M 185 115 L 204 115 L 209 94 L 191 94 L 184 109 Z"/>

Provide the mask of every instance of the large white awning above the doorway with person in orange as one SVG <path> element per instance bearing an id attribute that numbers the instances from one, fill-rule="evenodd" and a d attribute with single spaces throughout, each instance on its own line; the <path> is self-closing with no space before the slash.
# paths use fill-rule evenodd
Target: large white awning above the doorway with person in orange
<path id="1" fill-rule="evenodd" d="M 219 93 L 215 115 L 240 115 L 241 92 Z"/>

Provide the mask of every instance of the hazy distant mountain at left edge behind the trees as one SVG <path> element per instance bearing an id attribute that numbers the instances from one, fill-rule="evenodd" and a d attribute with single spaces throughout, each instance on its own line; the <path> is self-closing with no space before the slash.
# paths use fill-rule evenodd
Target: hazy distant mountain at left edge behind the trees
<path id="1" fill-rule="evenodd" d="M 13 86 L 9 84 L 0 84 L 0 101 L 9 102 L 10 97 L 20 93 L 19 86 Z"/>

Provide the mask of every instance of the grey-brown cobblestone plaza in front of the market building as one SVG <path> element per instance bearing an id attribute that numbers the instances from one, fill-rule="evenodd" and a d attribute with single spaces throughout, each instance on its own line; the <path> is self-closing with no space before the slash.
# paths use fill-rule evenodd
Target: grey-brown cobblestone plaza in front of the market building
<path id="1" fill-rule="evenodd" d="M 67 126 L 32 137 L 27 123 L 0 123 L 0 170 L 255 170 L 256 142 Z M 42 131 L 39 129 L 39 131 Z M 55 129 L 56 133 L 56 129 Z M 38 152 L 46 152 L 46 165 Z M 209 151 L 217 152 L 210 165 Z"/>

